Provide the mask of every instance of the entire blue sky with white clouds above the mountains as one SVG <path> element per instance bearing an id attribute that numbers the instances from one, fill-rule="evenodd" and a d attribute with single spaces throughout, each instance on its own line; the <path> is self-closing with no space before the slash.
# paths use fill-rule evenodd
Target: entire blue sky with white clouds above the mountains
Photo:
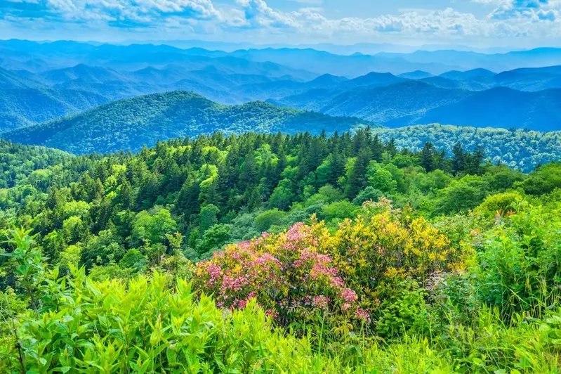
<path id="1" fill-rule="evenodd" d="M 0 0 L 0 39 L 560 46 L 561 0 Z"/>

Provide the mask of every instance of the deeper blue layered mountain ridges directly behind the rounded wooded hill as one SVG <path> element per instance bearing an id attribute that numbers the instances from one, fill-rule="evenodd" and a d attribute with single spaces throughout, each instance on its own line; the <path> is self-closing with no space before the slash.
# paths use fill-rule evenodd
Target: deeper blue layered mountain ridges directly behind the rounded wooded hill
<path id="1" fill-rule="evenodd" d="M 235 63 L 200 70 L 174 64 L 133 71 L 84 64 L 43 72 L 0 69 L 0 130 L 54 120 L 121 98 L 176 90 L 194 91 L 225 105 L 268 101 L 389 127 L 440 122 L 559 129 L 555 102 L 561 89 L 560 66 L 498 74 L 485 69 L 442 75 L 421 70 L 402 75 L 369 72 L 354 79 L 325 74 L 305 80 L 275 77 L 275 70 L 265 70 Z M 526 112 L 511 112 L 501 104 L 510 98 L 522 103 L 517 108 Z"/>

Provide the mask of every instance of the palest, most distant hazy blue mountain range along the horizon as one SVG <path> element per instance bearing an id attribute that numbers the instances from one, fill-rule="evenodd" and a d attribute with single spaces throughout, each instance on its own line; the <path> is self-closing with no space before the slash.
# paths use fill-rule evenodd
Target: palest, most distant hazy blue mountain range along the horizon
<path id="1" fill-rule="evenodd" d="M 37 42 L 26 40 L 0 41 L 0 67 L 8 70 L 44 71 L 60 67 L 70 67 L 84 63 L 118 70 L 139 70 L 143 67 L 163 67 L 171 63 L 183 65 L 189 70 L 198 70 L 208 65 L 231 65 L 237 61 L 239 65 L 265 68 L 272 74 L 286 75 L 276 72 L 275 65 L 293 70 L 291 75 L 341 75 L 358 77 L 371 71 L 392 72 L 402 74 L 414 70 L 423 70 L 433 75 L 440 75 L 449 70 L 471 70 L 485 68 L 501 72 L 519 67 L 543 67 L 561 65 L 561 49 L 541 48 L 529 51 L 510 51 L 506 53 L 480 53 L 464 50 L 433 50 L 395 53 L 392 46 L 378 45 L 361 49 L 327 48 L 340 53 L 330 53 L 313 48 L 248 48 L 249 44 L 240 44 L 245 49 L 219 51 L 220 46 L 201 48 L 205 44 L 193 42 L 177 44 L 190 46 L 178 48 L 165 44 L 100 44 L 77 41 Z M 318 49 L 322 47 L 319 46 Z M 211 50 L 213 49 L 213 50 Z M 325 49 L 325 48 L 324 48 Z M 354 50 L 355 53 L 350 54 Z M 357 51 L 369 51 L 363 54 Z M 385 52 L 383 52 L 385 50 Z M 260 65 L 266 64 L 266 65 Z M 271 70 L 268 70 L 271 69 Z"/>

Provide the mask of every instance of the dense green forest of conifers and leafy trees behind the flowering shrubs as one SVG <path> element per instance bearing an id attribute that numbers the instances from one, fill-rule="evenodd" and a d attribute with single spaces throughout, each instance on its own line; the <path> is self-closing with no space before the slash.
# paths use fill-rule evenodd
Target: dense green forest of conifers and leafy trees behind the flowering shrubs
<path id="1" fill-rule="evenodd" d="M 136 155 L 70 157 L 5 144 L 15 155 L 3 164 L 11 172 L 3 176 L 7 188 L 0 196 L 4 231 L 32 228 L 48 243 L 52 261 L 68 246 L 80 247 L 88 269 L 117 264 L 128 250 L 144 252 L 144 245 L 168 245 L 166 234 L 176 231 L 197 259 L 312 214 L 336 227 L 362 202 L 381 197 L 437 217 L 468 212 L 511 188 L 541 194 L 557 183 L 544 172 L 553 173 L 556 164 L 527 176 L 486 164 L 484 148 L 468 151 L 458 142 L 447 152 L 427 142 L 413 151 L 398 148 L 393 138 L 383 142 L 369 128 L 329 137 L 215 133 L 158 142 Z M 46 160 L 11 166 L 12 159 L 35 153 Z M 154 232 L 152 221 L 159 225 Z M 98 240 L 119 250 L 107 259 L 86 254 Z"/>

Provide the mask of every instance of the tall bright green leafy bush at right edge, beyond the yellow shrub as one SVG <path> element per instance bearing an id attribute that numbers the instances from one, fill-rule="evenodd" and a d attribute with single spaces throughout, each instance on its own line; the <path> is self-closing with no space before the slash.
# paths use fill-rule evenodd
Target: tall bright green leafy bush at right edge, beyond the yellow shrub
<path id="1" fill-rule="evenodd" d="M 560 297 L 561 223 L 527 202 L 514 207 L 517 214 L 484 233 L 478 248 L 480 293 L 505 318 L 539 317 Z"/>

